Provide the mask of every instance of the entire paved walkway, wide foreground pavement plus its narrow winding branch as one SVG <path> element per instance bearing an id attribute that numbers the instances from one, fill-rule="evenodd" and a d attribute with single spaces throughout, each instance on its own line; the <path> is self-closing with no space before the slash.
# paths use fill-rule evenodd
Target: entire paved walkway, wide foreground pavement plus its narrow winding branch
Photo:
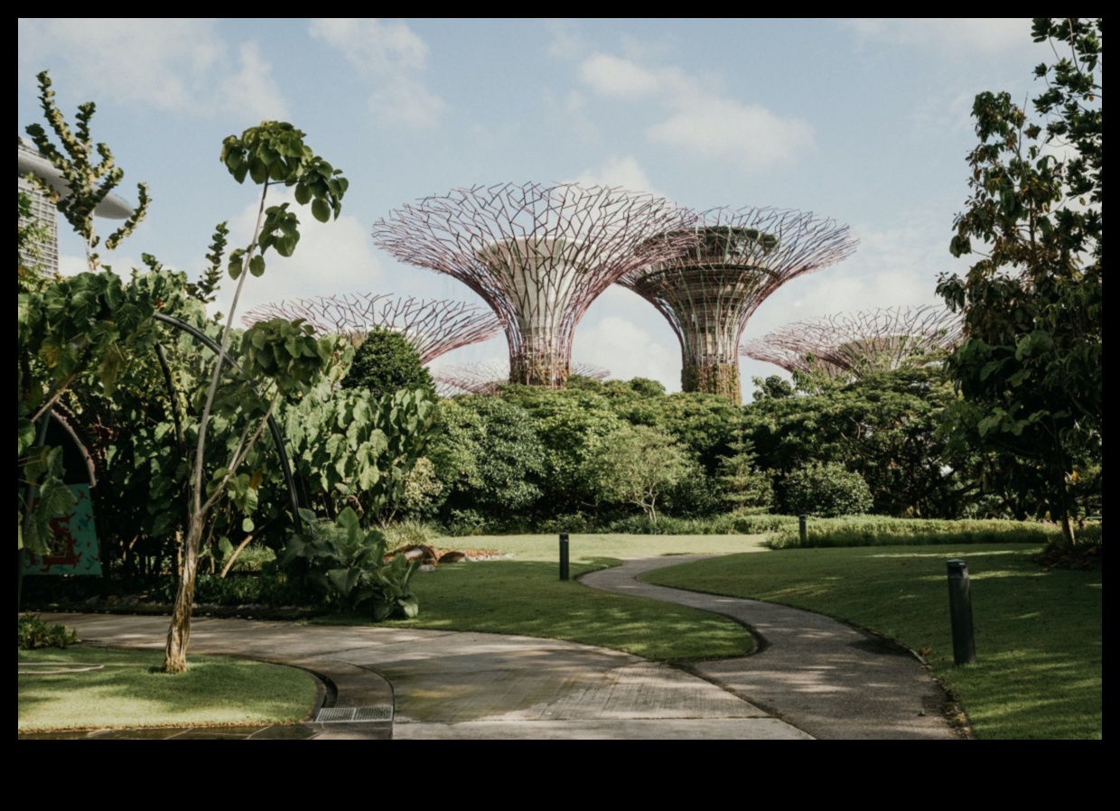
<path id="1" fill-rule="evenodd" d="M 762 652 L 684 665 L 496 634 L 196 618 L 192 653 L 309 670 L 324 686 L 306 724 L 115 730 L 85 737 L 952 738 L 944 696 L 912 654 L 808 612 L 647 586 L 627 561 L 584 582 L 692 605 L 747 624 Z M 161 649 L 167 617 L 44 615 L 82 638 Z M 60 736 L 54 736 L 60 737 Z M 65 737 L 75 737 L 66 734 Z"/>

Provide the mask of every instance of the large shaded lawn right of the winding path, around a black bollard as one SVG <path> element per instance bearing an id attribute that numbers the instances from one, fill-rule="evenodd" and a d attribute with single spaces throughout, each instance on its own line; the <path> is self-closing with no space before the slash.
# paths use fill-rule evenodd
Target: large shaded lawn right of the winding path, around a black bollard
<path id="1" fill-rule="evenodd" d="M 1102 736 L 1101 571 L 1043 571 L 1036 546 L 784 550 L 644 579 L 828 614 L 921 651 L 980 738 Z M 977 664 L 954 666 L 945 560 L 969 566 Z"/>

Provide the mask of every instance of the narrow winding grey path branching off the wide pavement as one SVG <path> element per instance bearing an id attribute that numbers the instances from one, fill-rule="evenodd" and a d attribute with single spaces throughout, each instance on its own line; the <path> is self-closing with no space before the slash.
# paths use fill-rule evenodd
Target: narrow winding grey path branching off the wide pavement
<path id="1" fill-rule="evenodd" d="M 627 560 L 580 582 L 702 608 L 743 623 L 763 643 L 741 659 L 694 662 L 697 675 L 816 738 L 959 738 L 944 691 L 917 656 L 820 614 L 752 599 L 653 586 L 636 578 L 708 556 Z"/>

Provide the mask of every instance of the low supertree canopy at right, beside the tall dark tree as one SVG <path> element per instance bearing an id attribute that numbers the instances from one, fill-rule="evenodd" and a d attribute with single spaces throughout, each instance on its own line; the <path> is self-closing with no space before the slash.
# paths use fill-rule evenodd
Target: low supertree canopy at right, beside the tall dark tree
<path id="1" fill-rule="evenodd" d="M 960 317 L 943 307 L 887 307 L 790 324 L 752 342 L 743 354 L 790 371 L 805 371 L 808 363 L 858 379 L 940 361 L 960 342 Z"/>

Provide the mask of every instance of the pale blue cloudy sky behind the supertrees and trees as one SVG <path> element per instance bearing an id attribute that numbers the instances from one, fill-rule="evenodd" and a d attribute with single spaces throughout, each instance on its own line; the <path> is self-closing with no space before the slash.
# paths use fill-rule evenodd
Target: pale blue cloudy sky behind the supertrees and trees
<path id="1" fill-rule="evenodd" d="M 482 304 L 371 237 L 393 209 L 460 187 L 579 181 L 849 225 L 856 253 L 772 295 L 748 342 L 793 321 L 940 305 L 939 276 L 968 267 L 949 241 L 969 196 L 972 100 L 1008 91 L 1025 103 L 1042 91 L 1034 66 L 1052 60 L 1028 19 L 21 19 L 18 121 L 19 134 L 43 123 L 44 69 L 71 121 L 96 102 L 91 130 L 124 169 L 121 195 L 134 202 L 144 181 L 153 201 L 105 264 L 127 274 L 151 253 L 192 278 L 216 223 L 228 221 L 232 248 L 255 216 L 258 187 L 226 173 L 222 140 L 262 120 L 304 130 L 349 180 L 342 216 L 320 225 L 302 209 L 295 255 L 246 282 L 239 313 L 371 291 Z M 84 270 L 76 239 L 59 248 L 64 272 Z M 223 311 L 232 290 L 226 280 Z M 506 357 L 500 336 L 432 367 Z M 617 286 L 577 327 L 572 358 L 680 390 L 669 323 Z M 771 374 L 787 376 L 741 358 L 745 398 Z"/>

